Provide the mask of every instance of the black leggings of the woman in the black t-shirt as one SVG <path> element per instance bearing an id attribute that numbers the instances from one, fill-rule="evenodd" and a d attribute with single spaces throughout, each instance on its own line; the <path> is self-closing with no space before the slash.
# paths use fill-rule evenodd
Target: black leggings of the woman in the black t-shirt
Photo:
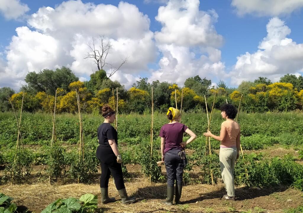
<path id="1" fill-rule="evenodd" d="M 108 188 L 108 180 L 112 174 L 117 190 L 125 188 L 121 164 L 117 163 L 117 157 L 111 147 L 98 146 L 96 156 L 101 165 L 100 187 Z"/>

